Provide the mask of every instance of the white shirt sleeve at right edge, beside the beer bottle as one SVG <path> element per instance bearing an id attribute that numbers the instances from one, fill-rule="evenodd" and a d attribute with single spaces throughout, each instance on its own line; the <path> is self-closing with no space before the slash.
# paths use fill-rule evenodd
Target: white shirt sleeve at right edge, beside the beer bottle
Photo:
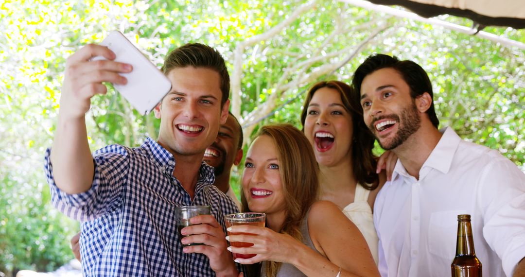
<path id="1" fill-rule="evenodd" d="M 483 236 L 512 276 L 525 256 L 525 174 L 507 158 L 496 157 L 481 171 L 478 193 Z"/>

